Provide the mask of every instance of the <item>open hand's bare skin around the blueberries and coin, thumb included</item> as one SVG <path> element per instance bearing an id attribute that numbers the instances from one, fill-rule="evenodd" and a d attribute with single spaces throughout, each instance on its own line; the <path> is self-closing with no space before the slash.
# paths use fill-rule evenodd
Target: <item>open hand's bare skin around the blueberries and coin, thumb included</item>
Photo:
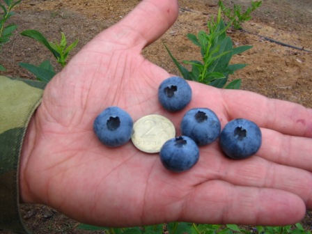
<path id="1" fill-rule="evenodd" d="M 284 225 L 311 210 L 312 110 L 299 104 L 189 82 L 187 109 L 212 109 L 222 127 L 233 118 L 253 120 L 263 145 L 255 156 L 235 161 L 214 142 L 200 148 L 198 163 L 185 173 L 167 171 L 157 155 L 131 142 L 107 148 L 96 139 L 93 120 L 113 105 L 134 120 L 161 114 L 179 129 L 187 109 L 172 114 L 157 101 L 159 84 L 171 75 L 141 55 L 177 17 L 177 1 L 141 1 L 49 82 L 22 148 L 22 202 L 99 226 Z"/>

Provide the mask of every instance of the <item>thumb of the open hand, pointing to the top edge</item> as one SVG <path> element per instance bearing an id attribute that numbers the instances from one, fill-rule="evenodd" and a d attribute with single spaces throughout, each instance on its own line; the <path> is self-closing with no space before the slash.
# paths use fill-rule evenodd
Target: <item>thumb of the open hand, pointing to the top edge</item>
<path id="1" fill-rule="evenodd" d="M 96 39 L 143 49 L 160 38 L 178 17 L 177 0 L 143 0 Z"/>

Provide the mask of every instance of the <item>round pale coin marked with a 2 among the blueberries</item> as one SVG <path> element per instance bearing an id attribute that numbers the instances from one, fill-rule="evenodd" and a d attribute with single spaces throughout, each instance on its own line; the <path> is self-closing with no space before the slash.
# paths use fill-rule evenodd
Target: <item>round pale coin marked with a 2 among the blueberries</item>
<path id="1" fill-rule="evenodd" d="M 132 143 L 146 153 L 158 153 L 162 145 L 176 137 L 176 129 L 168 118 L 157 114 L 143 116 L 133 125 Z"/>

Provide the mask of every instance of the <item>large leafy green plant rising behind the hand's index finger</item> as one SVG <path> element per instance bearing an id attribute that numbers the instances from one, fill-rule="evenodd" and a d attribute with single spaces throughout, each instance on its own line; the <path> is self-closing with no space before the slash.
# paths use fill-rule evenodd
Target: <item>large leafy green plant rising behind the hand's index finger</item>
<path id="1" fill-rule="evenodd" d="M 240 54 L 251 46 L 241 46 L 233 48 L 233 42 L 229 36 L 226 36 L 226 30 L 230 25 L 225 26 L 221 20 L 221 8 L 217 16 L 217 22 L 214 22 L 212 17 L 208 22 L 209 33 L 199 31 L 198 35 L 187 34 L 187 38 L 191 40 L 194 45 L 201 48 L 201 61 L 183 61 L 185 64 L 192 65 L 192 70 L 187 70 L 182 66 L 176 58 L 171 54 L 166 45 L 167 52 L 171 59 L 178 67 L 182 77 L 188 80 L 198 81 L 203 84 L 215 86 L 217 88 L 234 88 L 239 89 L 241 80 L 236 79 L 226 85 L 228 75 L 233 74 L 236 70 L 244 68 L 247 64 L 229 64 L 235 54 Z"/>

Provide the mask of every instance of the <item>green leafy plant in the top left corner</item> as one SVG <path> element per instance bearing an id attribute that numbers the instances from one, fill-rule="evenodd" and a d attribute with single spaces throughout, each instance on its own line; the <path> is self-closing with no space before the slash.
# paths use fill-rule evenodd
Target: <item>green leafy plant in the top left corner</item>
<path id="1" fill-rule="evenodd" d="M 10 41 L 10 37 L 13 35 L 13 31 L 17 28 L 17 25 L 15 24 L 6 24 L 6 21 L 15 13 L 12 11 L 12 9 L 20 3 L 20 1 L 12 1 L 12 0 L 4 0 L 5 4 L 0 3 L 0 7 L 3 10 L 3 13 L 1 13 L 1 19 L 0 19 L 0 51 L 6 42 Z M 0 71 L 4 71 L 6 68 L 3 67 L 3 65 L 0 65 Z"/>

